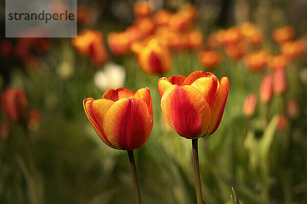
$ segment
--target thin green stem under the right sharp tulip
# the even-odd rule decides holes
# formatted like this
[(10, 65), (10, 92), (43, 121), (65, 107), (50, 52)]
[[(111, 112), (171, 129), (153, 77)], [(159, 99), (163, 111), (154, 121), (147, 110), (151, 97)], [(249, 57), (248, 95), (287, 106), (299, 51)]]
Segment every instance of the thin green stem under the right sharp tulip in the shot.
[(194, 167), (194, 180), (195, 180), (197, 204), (203, 204), (200, 163), (198, 156), (198, 138), (192, 139), (192, 152), (193, 152), (193, 167)]

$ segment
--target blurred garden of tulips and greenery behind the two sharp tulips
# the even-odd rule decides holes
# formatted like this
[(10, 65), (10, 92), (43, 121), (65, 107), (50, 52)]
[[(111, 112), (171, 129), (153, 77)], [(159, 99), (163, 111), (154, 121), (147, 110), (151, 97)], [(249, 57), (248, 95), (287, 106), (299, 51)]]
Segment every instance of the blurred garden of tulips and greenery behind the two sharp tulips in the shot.
[[(240, 203), (307, 203), (307, 1), (80, 0), (76, 38), (5, 38), (0, 9), (0, 203), (134, 203), (126, 152), (82, 108), (118, 87), (153, 100), (135, 150), (143, 202), (195, 203), (191, 141), (157, 85), (194, 70), (230, 80), (220, 127), (199, 140), (205, 202), (230, 203), (234, 187)], [(148, 49), (171, 66), (143, 64)]]

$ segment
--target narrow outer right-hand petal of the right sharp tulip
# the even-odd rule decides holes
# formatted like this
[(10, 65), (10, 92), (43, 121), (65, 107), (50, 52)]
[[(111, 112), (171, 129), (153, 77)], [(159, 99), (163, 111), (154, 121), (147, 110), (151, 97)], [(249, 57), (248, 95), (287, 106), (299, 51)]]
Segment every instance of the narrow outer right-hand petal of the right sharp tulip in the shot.
[(220, 80), (220, 88), (217, 91), (213, 105), (211, 107), (211, 122), (208, 128), (208, 135), (212, 135), (221, 123), (226, 101), (229, 92), (229, 80), (227, 77), (222, 77)]

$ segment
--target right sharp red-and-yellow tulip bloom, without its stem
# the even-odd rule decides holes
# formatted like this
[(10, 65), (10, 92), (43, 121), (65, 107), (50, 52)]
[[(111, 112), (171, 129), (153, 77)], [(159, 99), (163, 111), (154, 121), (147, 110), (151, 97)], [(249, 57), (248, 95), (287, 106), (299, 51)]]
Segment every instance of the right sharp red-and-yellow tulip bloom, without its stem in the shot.
[(220, 125), (229, 92), (229, 80), (213, 73), (193, 71), (184, 77), (162, 77), (158, 82), (161, 109), (167, 123), (187, 139), (212, 135)]

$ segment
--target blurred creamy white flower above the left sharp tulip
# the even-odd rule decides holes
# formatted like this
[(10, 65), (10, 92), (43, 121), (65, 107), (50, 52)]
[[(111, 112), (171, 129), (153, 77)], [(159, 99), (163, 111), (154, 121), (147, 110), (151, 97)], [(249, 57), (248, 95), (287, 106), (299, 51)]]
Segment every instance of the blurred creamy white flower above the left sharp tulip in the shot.
[(108, 63), (103, 70), (96, 72), (94, 83), (100, 90), (117, 89), (124, 85), (126, 71), (123, 66)]

